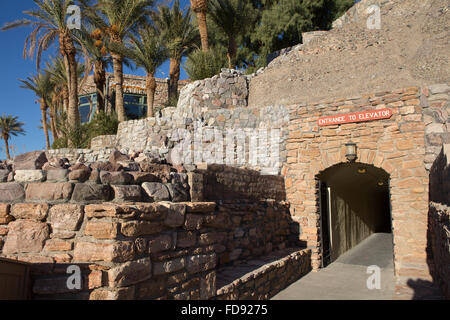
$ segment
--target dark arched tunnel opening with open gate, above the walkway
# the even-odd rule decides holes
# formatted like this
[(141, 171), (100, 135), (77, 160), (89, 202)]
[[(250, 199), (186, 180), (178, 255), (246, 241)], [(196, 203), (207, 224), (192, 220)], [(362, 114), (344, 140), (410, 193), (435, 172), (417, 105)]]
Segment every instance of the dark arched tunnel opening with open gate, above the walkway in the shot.
[(318, 178), (322, 267), (372, 234), (392, 233), (386, 171), (362, 163), (342, 163)]

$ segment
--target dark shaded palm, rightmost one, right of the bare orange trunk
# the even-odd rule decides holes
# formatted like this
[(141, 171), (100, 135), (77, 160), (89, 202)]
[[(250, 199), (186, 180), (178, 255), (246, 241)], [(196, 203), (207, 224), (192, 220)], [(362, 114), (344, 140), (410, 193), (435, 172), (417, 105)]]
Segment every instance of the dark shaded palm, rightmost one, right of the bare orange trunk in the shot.
[(209, 14), (228, 39), (228, 67), (236, 66), (237, 38), (244, 34), (248, 25), (245, 0), (211, 0), (209, 1)]

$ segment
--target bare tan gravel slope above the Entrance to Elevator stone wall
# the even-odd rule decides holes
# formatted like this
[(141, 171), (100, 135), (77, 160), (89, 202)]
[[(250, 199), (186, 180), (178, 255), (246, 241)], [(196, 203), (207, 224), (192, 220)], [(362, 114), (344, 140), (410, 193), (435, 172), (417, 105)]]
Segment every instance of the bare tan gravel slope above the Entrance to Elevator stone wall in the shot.
[[(381, 8), (381, 29), (366, 9)], [(250, 106), (318, 102), (450, 82), (448, 0), (363, 0), (336, 26), (272, 61), (250, 83)]]

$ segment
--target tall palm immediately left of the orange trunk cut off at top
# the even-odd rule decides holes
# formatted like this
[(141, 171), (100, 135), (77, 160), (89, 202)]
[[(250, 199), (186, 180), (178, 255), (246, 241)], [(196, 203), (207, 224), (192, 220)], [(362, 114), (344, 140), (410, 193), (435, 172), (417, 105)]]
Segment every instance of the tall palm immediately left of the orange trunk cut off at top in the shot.
[(197, 28), (191, 23), (191, 10), (183, 13), (179, 0), (175, 0), (172, 9), (159, 6), (158, 11), (153, 15), (153, 20), (169, 51), (169, 101), (174, 101), (178, 98), (181, 59), (195, 48), (199, 36)]

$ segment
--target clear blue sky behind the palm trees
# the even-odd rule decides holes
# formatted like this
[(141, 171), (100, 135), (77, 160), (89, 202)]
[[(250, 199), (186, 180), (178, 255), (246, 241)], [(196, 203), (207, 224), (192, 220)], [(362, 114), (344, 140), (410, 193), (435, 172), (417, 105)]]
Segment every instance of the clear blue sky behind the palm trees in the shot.
[[(181, 7), (185, 8), (189, 0), (181, 0)], [(23, 11), (33, 9), (32, 0), (2, 1), (0, 10), (0, 26), (6, 22), (23, 19)], [(36, 61), (22, 57), (23, 46), (27, 34), (31, 28), (22, 27), (8, 31), (0, 31), (0, 115), (18, 116), (19, 121), (25, 123), (25, 136), (12, 137), (10, 145), (14, 147), (14, 153), (21, 154), (28, 151), (43, 150), (45, 148), (44, 132), (38, 129), (40, 126), (41, 112), (35, 102), (33, 92), (20, 88), (18, 79), (25, 79), (36, 72)], [(55, 54), (55, 48), (50, 48), (49, 54)], [(131, 71), (125, 68), (129, 74), (144, 75), (143, 70)], [(169, 64), (165, 63), (157, 73), (157, 77), (166, 78), (169, 73)], [(183, 68), (181, 79), (187, 75)], [(0, 159), (5, 159), (5, 145), (0, 141)]]

